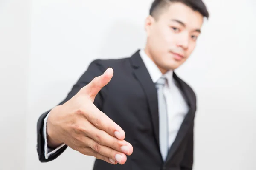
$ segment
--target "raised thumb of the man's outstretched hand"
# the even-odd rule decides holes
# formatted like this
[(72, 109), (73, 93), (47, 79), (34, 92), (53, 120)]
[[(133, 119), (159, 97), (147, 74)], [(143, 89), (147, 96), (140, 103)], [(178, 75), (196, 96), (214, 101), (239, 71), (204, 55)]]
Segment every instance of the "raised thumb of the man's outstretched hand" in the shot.
[(112, 77), (113, 69), (108, 68), (102, 75), (95, 77), (88, 85), (84, 87), (85, 93), (89, 96), (92, 102), (99, 91), (110, 82)]

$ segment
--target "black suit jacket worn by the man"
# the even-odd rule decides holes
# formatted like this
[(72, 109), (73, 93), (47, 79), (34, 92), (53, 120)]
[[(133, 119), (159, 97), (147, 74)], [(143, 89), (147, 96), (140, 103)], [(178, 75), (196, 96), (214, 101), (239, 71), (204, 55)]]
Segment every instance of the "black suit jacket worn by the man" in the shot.
[[(189, 111), (169, 150), (167, 160), (162, 161), (159, 148), (157, 90), (140, 57), (139, 51), (122, 59), (98, 59), (91, 62), (87, 71), (73, 86), (67, 102), (94, 77), (111, 67), (113, 78), (96, 96), (94, 104), (125, 131), (125, 140), (134, 147), (125, 164), (112, 165), (96, 159), (93, 170), (191, 170), (193, 164), (193, 128), (196, 97), (192, 89), (174, 73), (189, 105)], [(67, 146), (48, 159), (44, 157), (43, 124), (46, 113), (38, 119), (38, 156), (41, 162), (56, 159)]]

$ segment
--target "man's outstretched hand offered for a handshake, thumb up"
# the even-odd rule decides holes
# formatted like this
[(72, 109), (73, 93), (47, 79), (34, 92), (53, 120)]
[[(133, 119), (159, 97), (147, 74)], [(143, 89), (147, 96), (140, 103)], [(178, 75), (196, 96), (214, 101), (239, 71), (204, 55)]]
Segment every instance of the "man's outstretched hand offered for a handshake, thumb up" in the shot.
[(62, 143), (88, 156), (111, 164), (124, 164), (133, 147), (126, 142), (122, 128), (94, 104), (95, 96), (110, 82), (113, 69), (95, 77), (63, 105), (52, 109), (47, 119), (49, 146)]

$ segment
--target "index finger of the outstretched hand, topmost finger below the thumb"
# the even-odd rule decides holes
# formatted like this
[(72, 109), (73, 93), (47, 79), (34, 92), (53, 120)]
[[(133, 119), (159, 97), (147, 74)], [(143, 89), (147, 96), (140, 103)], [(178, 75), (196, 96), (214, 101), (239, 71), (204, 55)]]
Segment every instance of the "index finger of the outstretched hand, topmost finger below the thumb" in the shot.
[(104, 130), (111, 136), (115, 136), (119, 140), (125, 139), (125, 131), (117, 125), (112, 119), (100, 111), (93, 103), (84, 108), (87, 112), (85, 118), (100, 130)]

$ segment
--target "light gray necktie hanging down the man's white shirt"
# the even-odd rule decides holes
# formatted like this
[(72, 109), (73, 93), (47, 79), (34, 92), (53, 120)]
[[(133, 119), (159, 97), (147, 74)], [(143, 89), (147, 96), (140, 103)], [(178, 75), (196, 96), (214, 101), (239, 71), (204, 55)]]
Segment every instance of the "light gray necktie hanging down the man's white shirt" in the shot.
[(163, 94), (163, 87), (166, 84), (166, 81), (166, 78), (161, 77), (156, 82), (159, 113), (159, 141), (163, 161), (166, 160), (166, 156), (168, 154), (168, 116), (166, 109), (166, 99)]

